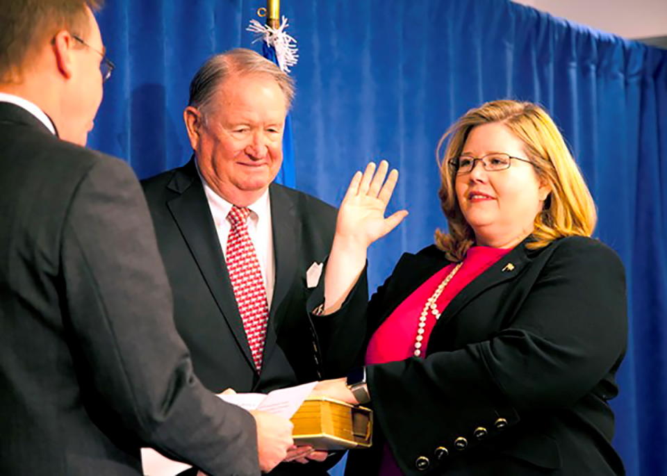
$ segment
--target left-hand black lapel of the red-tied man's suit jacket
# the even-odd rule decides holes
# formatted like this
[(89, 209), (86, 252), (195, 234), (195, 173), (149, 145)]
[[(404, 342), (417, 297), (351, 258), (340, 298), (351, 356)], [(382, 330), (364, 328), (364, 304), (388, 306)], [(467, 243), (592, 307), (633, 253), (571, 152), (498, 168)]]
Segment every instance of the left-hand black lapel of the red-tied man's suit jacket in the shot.
[(224, 255), (194, 158), (176, 170), (167, 188), (178, 194), (167, 202), (167, 207), (188, 243), (188, 248), (248, 365), (255, 370), (227, 265), (224, 263)]

